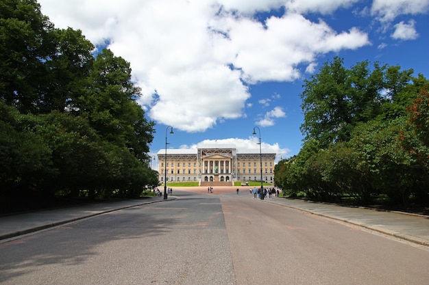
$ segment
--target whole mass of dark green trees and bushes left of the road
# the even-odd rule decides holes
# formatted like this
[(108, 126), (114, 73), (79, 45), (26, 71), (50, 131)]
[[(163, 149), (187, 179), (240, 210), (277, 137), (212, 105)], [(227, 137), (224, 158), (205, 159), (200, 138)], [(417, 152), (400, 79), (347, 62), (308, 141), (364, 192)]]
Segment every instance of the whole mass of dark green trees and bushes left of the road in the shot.
[[(136, 197), (154, 122), (130, 64), (82, 32), (56, 29), (32, 0), (0, 3), (0, 196)], [(7, 199), (6, 199), (7, 198)]]

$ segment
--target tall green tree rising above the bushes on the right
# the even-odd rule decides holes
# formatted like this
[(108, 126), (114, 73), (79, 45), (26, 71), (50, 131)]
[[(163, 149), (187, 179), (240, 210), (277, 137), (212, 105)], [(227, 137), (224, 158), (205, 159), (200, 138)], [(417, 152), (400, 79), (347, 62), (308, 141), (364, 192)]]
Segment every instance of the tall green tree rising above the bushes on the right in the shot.
[(360, 62), (347, 70), (343, 59), (335, 57), (304, 84), (302, 109), (305, 140), (318, 139), (328, 147), (348, 141), (353, 128), (380, 116), (382, 106), (399, 99), (411, 81), (413, 70)]

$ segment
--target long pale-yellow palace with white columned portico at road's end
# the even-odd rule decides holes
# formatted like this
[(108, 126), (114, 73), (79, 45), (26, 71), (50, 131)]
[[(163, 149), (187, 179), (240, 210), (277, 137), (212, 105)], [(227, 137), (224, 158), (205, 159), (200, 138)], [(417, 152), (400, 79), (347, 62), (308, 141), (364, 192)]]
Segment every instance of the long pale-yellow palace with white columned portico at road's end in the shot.
[(233, 185), (234, 181), (260, 181), (262, 157), (262, 180), (274, 182), (274, 152), (238, 150), (234, 145), (215, 144), (191, 149), (167, 149), (158, 152), (159, 180), (167, 182), (197, 181), (199, 185), (221, 182)]

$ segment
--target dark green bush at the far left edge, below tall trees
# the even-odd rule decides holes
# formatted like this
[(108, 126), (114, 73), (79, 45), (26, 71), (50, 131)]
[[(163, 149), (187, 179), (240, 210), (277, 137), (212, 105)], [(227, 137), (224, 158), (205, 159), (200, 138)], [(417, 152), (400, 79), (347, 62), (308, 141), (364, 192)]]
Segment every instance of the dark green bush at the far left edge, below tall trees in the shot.
[(0, 196), (10, 199), (50, 195), (44, 183), (56, 176), (51, 150), (34, 132), (42, 124), (32, 114), (21, 114), (0, 100)]

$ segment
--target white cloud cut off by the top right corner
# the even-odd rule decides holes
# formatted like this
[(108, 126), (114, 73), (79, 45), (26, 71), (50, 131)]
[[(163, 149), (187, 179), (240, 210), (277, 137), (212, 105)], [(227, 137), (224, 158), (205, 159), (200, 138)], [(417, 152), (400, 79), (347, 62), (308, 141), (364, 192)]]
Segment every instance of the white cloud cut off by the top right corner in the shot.
[(429, 0), (374, 0), (371, 14), (379, 21), (390, 22), (402, 14), (420, 14), (429, 10)]

